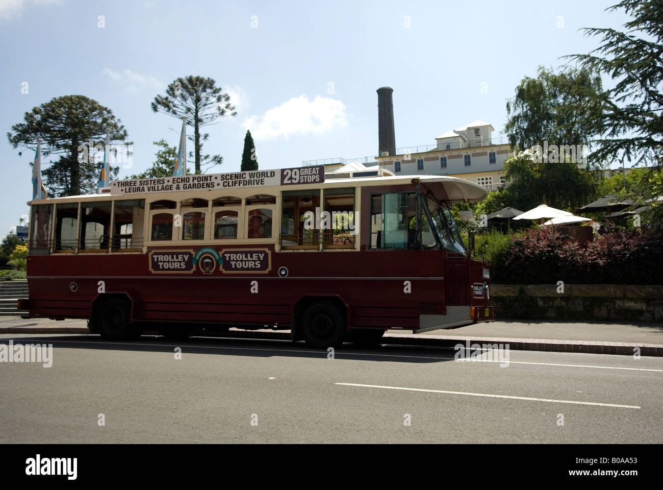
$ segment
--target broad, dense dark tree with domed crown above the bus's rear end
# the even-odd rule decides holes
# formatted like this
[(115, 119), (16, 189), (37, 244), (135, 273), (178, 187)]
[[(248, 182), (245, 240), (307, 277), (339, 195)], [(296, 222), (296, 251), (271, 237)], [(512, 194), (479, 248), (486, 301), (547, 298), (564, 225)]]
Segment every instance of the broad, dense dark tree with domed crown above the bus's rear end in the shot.
[[(58, 161), (42, 170), (50, 195), (72, 196), (96, 192), (101, 163), (94, 162), (90, 141), (93, 146), (103, 146), (107, 129), (111, 131), (112, 141), (127, 139), (127, 130), (113, 116), (113, 112), (86, 96), (53, 98), (26, 112), (23, 119), (24, 122), (13, 125), (7, 133), (13, 148), (21, 147), (34, 153), (37, 139), (42, 139), (43, 157), (60, 155)], [(88, 158), (80, 158), (80, 145), (86, 147)], [(84, 155), (86, 153), (81, 156)], [(110, 167), (111, 178), (117, 176), (118, 169)]]

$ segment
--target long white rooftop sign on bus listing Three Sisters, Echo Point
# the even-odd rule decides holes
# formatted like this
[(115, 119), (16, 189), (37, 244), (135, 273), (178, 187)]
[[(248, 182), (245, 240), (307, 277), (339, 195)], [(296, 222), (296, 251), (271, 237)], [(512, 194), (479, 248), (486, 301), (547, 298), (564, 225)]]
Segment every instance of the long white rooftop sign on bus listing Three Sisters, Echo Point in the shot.
[(125, 179), (111, 182), (111, 194), (150, 194), (203, 189), (237, 189), (269, 185), (320, 184), (325, 181), (324, 165), (292, 169), (252, 170), (230, 173)]

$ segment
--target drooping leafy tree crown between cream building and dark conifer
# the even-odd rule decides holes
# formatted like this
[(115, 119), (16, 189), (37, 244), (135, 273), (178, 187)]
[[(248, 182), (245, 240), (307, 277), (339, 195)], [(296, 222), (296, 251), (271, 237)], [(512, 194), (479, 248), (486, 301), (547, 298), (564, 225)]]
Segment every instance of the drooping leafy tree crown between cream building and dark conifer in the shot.
[(586, 68), (559, 73), (539, 66), (525, 77), (507, 102), (509, 143), (521, 151), (534, 145), (587, 145), (603, 132), (601, 77)]

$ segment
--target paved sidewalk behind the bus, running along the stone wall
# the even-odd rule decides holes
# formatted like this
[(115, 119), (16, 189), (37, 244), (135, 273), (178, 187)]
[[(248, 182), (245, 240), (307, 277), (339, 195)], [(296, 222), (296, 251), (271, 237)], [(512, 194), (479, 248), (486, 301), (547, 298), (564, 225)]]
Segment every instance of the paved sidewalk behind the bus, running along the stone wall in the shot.
[[(87, 334), (85, 320), (53, 321), (2, 317), (0, 334)], [(290, 331), (231, 329), (225, 337), (245, 339), (290, 339)], [(509, 344), (524, 351), (574, 352), (663, 357), (663, 323), (582, 323), (555, 321), (494, 321), (457, 329), (412, 334), (389, 330), (382, 339), (389, 345), (450, 347), (457, 344)]]

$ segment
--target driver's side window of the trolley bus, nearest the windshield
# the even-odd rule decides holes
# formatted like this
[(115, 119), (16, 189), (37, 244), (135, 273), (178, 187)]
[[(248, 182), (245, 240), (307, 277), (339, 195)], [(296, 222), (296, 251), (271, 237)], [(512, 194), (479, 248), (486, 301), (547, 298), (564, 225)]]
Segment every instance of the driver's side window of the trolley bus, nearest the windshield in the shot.
[(371, 196), (371, 248), (414, 248), (416, 193)]

